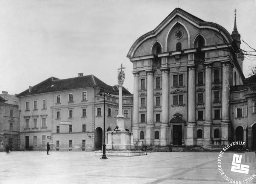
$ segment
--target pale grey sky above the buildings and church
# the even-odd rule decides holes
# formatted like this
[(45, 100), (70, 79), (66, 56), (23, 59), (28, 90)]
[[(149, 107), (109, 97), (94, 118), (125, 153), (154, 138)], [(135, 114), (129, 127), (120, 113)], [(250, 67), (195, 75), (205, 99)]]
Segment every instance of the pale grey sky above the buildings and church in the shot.
[[(123, 86), (133, 93), (126, 55), (175, 8), (229, 33), (236, 9), (241, 40), (256, 48), (256, 0), (0, 0), (0, 92), (21, 93), (51, 76), (78, 73), (116, 85), (122, 63)], [(241, 48), (248, 50), (243, 43)], [(255, 65), (244, 60), (245, 76)]]

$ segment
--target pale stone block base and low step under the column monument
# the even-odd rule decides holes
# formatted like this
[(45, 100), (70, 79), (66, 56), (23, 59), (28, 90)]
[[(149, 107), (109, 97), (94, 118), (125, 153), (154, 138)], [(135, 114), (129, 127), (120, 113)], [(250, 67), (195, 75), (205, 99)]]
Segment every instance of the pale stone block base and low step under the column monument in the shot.
[[(95, 156), (101, 156), (102, 151), (95, 151)], [(133, 132), (110, 131), (107, 132), (106, 155), (132, 157), (145, 155), (145, 152), (134, 149)]]

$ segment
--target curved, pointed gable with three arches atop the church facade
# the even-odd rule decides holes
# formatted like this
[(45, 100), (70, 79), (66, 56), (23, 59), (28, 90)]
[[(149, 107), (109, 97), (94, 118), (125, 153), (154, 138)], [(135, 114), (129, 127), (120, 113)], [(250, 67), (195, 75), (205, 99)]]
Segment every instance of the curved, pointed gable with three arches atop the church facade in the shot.
[[(203, 21), (180, 8), (176, 8), (154, 30), (140, 36), (131, 46), (127, 57), (133, 58), (136, 56), (151, 55), (152, 45), (156, 41), (161, 46), (164, 46), (164, 48), (162, 47), (162, 52), (174, 51), (176, 43), (179, 41), (174, 40), (174, 34), (177, 30), (183, 32), (183, 40), (180, 38), (182, 50), (193, 48), (193, 41), (198, 34), (205, 38), (208, 46), (223, 44), (215, 35), (224, 38), (228, 43), (232, 42), (229, 32), (222, 26)], [(172, 41), (174, 41), (173, 44), (171, 44)]]

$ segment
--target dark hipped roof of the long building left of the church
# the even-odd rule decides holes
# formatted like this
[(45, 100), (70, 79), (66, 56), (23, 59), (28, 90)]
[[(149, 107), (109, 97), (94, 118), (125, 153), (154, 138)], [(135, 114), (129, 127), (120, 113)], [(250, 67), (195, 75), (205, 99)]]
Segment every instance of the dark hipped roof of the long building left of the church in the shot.
[[(55, 77), (50, 77), (37, 85), (34, 85), (29, 92), (29, 89), (21, 92), (17, 97), (27, 96), (32, 94), (47, 93), (52, 91), (63, 91), (72, 90), (78, 88), (87, 87), (103, 87), (106, 92), (111, 94), (119, 94), (118, 87), (116, 85), (110, 86), (105, 82), (101, 81), (94, 75), (80, 76), (69, 79), (58, 79)], [(123, 87), (123, 95), (131, 95), (131, 93)]]

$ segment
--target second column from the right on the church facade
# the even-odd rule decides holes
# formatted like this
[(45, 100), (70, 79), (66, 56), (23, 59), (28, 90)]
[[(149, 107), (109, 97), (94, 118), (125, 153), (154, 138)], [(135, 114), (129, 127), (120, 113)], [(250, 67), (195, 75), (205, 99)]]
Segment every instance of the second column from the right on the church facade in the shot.
[(205, 118), (204, 118), (204, 146), (211, 144), (212, 130), (212, 65), (205, 66)]

